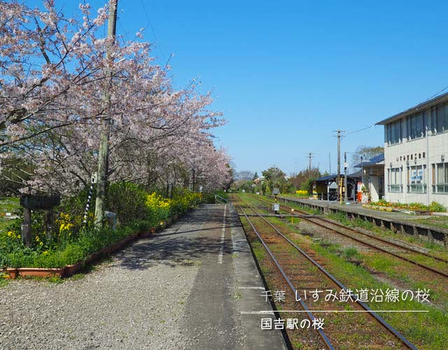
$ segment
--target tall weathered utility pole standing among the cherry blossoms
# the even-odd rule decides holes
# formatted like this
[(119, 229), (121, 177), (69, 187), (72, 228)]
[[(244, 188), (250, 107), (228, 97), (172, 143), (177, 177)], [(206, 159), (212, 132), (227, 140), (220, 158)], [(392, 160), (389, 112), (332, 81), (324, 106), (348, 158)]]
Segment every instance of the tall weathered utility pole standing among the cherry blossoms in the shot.
[[(116, 25), (117, 25), (117, 8), (118, 0), (109, 1), (109, 20), (107, 23), (107, 37), (111, 40), (109, 48), (106, 50), (106, 61), (111, 59), (110, 47), (115, 43)], [(110, 62), (111, 63), (111, 62)], [(106, 106), (106, 113), (111, 113), (109, 107), (111, 105), (111, 92), (109, 91), (112, 83), (112, 71), (106, 71), (106, 78), (108, 84), (103, 94), (104, 105)], [(108, 176), (108, 156), (109, 156), (109, 128), (111, 120), (110, 117), (103, 118), (101, 137), (99, 140), (98, 150), (98, 182), (97, 182), (97, 200), (95, 202), (95, 225), (101, 227), (104, 220), (104, 208), (106, 207), (106, 182)]]

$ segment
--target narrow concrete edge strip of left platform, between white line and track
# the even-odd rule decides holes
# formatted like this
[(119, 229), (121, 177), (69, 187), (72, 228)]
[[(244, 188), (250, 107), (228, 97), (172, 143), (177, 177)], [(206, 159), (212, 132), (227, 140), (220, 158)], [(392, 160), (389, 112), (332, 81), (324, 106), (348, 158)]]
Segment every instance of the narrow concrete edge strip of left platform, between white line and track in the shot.
[[(241, 297), (237, 300), (241, 327), (244, 332), (244, 345), (246, 349), (288, 349), (281, 330), (262, 330), (261, 318), (276, 318), (271, 304), (265, 302), (262, 291), (265, 286), (262, 282), (257, 265), (253, 259), (251, 248), (239, 221), (235, 207), (229, 206), (229, 218), (232, 223), (232, 253), (235, 266), (236, 293)], [(270, 314), (259, 311), (269, 310)], [(272, 323), (273, 324), (273, 323)]]

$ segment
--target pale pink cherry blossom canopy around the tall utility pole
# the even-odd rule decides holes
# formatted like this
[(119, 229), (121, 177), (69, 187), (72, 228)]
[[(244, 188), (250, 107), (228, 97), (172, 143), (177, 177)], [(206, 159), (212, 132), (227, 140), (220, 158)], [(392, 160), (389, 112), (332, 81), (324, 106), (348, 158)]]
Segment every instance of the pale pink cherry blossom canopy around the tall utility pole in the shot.
[(225, 183), (229, 158), (212, 142), (225, 121), (208, 109), (211, 94), (194, 80), (175, 90), (150, 43), (100, 38), (107, 6), (92, 17), (83, 4), (82, 18), (66, 18), (53, 1), (44, 5), (0, 1), (0, 158), (27, 164), (24, 186), (62, 194), (88, 186), (104, 118), (109, 181), (181, 185), (194, 171), (204, 188)]

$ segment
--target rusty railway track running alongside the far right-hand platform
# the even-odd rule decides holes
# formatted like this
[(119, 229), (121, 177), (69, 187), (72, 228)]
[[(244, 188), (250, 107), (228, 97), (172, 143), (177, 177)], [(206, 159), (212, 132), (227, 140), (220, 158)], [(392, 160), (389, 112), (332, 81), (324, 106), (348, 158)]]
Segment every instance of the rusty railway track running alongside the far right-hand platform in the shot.
[[(264, 198), (260, 198), (258, 196), (255, 195), (249, 195), (249, 197), (253, 197), (254, 199), (260, 201), (260, 202), (265, 202), (267, 204), (272, 204), (272, 201), (269, 200), (265, 200)], [(283, 211), (286, 211), (288, 214), (291, 214), (291, 207), (288, 207), (284, 204), (279, 204), (280, 205), (280, 209)], [(419, 255), (423, 255), (426, 258), (432, 258), (434, 260), (437, 260), (438, 262), (442, 262), (443, 264), (446, 264), (447, 267), (447, 271), (448, 271), (448, 260), (444, 260), (443, 258), (439, 258), (435, 255), (431, 255), (422, 251), (419, 251), (415, 248), (410, 248), (407, 246), (402, 246), (401, 244), (395, 244), (392, 241), (388, 241), (386, 239), (382, 239), (381, 237), (375, 237), (373, 235), (369, 235), (366, 234), (364, 232), (360, 232), (358, 230), (353, 230), (352, 228), (347, 228), (344, 225), (340, 225), (338, 223), (334, 223), (332, 221), (329, 221), (328, 219), (325, 218), (317, 218), (317, 217), (309, 217), (309, 214), (307, 214), (304, 211), (300, 211), (298, 209), (294, 209), (295, 212), (300, 213), (300, 214), (304, 214), (304, 216), (301, 216), (301, 218), (304, 221), (307, 221), (309, 223), (313, 223), (314, 225), (318, 225), (321, 228), (325, 228), (327, 230), (330, 230), (331, 232), (335, 232), (338, 235), (342, 235), (344, 237), (348, 237), (349, 239), (352, 239), (354, 241), (357, 241), (360, 244), (364, 244), (365, 246), (369, 246), (370, 248), (373, 248), (374, 250), (377, 251), (381, 251), (383, 253), (387, 253), (389, 255), (393, 255), (395, 258), (400, 258), (401, 260), (405, 260), (407, 262), (410, 262), (416, 266), (419, 266), (423, 269), (426, 269), (430, 272), (433, 272), (435, 274), (438, 274), (440, 276), (444, 276), (444, 277), (448, 277), (448, 272), (444, 272), (444, 271), (440, 271), (439, 269), (435, 269), (433, 267), (427, 266), (422, 264), (421, 262), (417, 262), (415, 260), (409, 259), (405, 256), (402, 256), (398, 253), (394, 253), (393, 251), (389, 251), (388, 249), (384, 248), (384, 246), (379, 246), (378, 244), (375, 243), (371, 243), (369, 241), (365, 241), (364, 239), (360, 239), (358, 237), (353, 237), (353, 235), (347, 234), (346, 232), (342, 232), (342, 230), (346, 230), (346, 231), (350, 231), (350, 232), (354, 232), (356, 235), (363, 235), (365, 237), (369, 237), (369, 239), (374, 239), (374, 241), (379, 242), (380, 244), (385, 244), (386, 246), (392, 247), (392, 248), (398, 248), (399, 250), (404, 251), (405, 253), (417, 253)], [(308, 217), (307, 217), (308, 216)]]

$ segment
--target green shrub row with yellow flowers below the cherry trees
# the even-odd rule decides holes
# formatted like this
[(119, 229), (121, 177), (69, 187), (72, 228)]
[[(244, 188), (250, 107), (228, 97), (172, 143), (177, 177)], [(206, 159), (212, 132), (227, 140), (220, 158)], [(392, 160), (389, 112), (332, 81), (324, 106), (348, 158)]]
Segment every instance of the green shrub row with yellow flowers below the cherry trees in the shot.
[(94, 228), (92, 211), (87, 216), (87, 224), (83, 224), (83, 199), (87, 199), (87, 193), (62, 203), (53, 235), (45, 232), (43, 213), (35, 211), (31, 224), (32, 248), (22, 243), (20, 219), (15, 221), (5, 235), (0, 235), (0, 268), (71, 265), (133, 233), (147, 231), (163, 224), (169, 217), (184, 214), (201, 201), (200, 195), (186, 190), (167, 199), (157, 193), (146, 193), (132, 183), (111, 185), (109, 198), (108, 209), (118, 216), (116, 230), (107, 225), (102, 229)]

